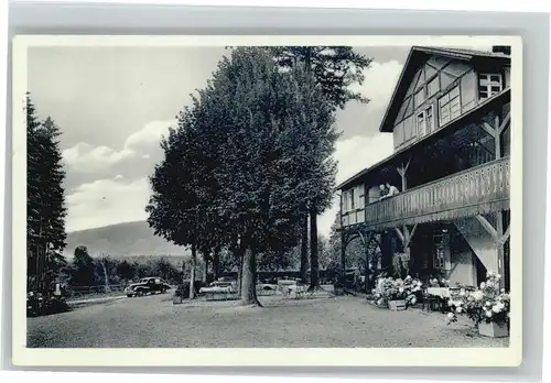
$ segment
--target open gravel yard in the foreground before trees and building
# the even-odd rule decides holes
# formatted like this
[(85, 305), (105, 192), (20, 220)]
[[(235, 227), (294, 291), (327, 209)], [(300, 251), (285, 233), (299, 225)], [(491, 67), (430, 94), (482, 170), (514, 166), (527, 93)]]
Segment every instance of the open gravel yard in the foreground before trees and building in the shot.
[(125, 298), (28, 319), (28, 347), (507, 347), (439, 313), (389, 311), (357, 297), (173, 305), (171, 294)]

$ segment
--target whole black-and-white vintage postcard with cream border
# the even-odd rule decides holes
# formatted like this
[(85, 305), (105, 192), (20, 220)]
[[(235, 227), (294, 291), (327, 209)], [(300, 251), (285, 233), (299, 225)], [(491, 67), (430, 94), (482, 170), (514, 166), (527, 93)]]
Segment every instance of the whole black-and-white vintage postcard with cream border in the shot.
[(521, 51), (17, 36), (13, 363), (519, 365)]

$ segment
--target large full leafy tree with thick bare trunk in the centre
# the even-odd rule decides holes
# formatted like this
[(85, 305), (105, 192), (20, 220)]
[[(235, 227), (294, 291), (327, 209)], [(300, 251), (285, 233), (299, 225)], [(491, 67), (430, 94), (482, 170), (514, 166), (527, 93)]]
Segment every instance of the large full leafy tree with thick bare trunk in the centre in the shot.
[(218, 106), (226, 102), (229, 112), (222, 119), (229, 144), (222, 146), (220, 214), (239, 228), (241, 297), (252, 303), (256, 255), (296, 245), (306, 201), (328, 195), (335, 163), (313, 166), (310, 152), (332, 152), (337, 134), (321, 86), (304, 70), (279, 70), (269, 50), (235, 50), (214, 84)]

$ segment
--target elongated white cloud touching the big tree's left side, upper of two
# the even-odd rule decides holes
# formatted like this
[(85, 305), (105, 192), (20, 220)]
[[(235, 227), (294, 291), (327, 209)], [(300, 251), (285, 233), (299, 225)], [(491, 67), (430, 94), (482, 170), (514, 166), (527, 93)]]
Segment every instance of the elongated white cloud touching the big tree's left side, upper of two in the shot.
[(63, 161), (73, 171), (98, 173), (127, 160), (137, 157), (149, 160), (150, 153), (160, 151), (161, 136), (168, 134), (169, 127), (174, 127), (175, 123), (175, 120), (148, 122), (140, 131), (127, 138), (120, 151), (79, 142), (63, 151)]

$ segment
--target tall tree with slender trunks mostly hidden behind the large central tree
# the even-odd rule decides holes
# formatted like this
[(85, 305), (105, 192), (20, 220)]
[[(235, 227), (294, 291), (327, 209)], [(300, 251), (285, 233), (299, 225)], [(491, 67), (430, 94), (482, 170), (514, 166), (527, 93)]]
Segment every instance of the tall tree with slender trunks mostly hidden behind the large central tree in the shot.
[[(305, 68), (306, 74), (321, 86), (323, 95), (336, 110), (344, 109), (349, 101), (367, 103), (369, 100), (354, 90), (355, 85), (364, 81), (364, 70), (371, 59), (355, 52), (350, 46), (277, 46), (272, 48), (280, 66), (288, 69)], [(327, 147), (331, 147), (328, 145)], [(324, 164), (331, 151), (311, 152), (313, 167)], [(313, 169), (315, 172), (315, 169)], [(322, 174), (324, 171), (320, 171)], [(315, 178), (312, 178), (315, 179)], [(322, 183), (326, 185), (325, 183)], [(312, 185), (316, 187), (317, 185)], [(310, 251), (311, 251), (311, 288), (318, 285), (317, 256), (317, 215), (322, 214), (329, 201), (326, 194), (309, 201), (305, 208), (310, 216)], [(303, 218), (302, 242), (307, 242), (307, 215)], [(305, 274), (309, 247), (302, 245), (301, 273)]]

